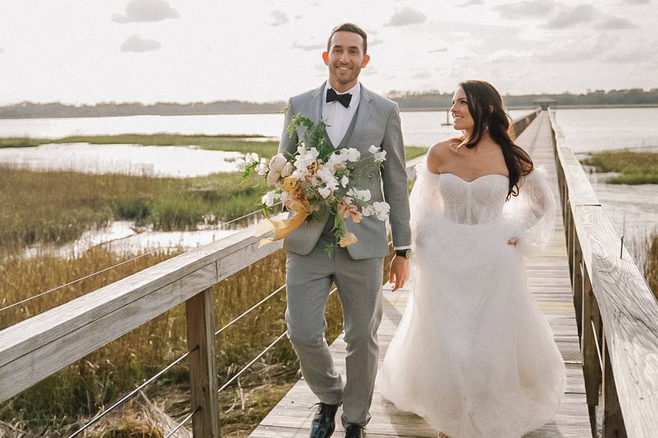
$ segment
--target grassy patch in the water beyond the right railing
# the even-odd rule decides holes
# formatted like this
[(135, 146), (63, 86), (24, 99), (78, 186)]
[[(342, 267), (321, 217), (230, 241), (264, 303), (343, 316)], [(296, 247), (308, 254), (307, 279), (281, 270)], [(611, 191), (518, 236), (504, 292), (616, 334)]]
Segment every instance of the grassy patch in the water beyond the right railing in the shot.
[(658, 153), (605, 151), (592, 153), (582, 163), (594, 172), (619, 172), (608, 177), (611, 184), (658, 184)]

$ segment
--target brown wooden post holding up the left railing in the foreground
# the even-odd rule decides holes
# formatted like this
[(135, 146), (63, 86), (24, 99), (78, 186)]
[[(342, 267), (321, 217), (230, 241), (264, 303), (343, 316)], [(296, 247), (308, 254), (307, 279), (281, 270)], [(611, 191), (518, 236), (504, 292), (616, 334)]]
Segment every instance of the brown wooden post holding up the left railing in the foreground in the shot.
[(219, 438), (219, 398), (217, 395), (217, 361), (215, 359), (215, 309), (212, 288), (185, 302), (187, 344), (190, 355), (192, 420), (195, 438)]

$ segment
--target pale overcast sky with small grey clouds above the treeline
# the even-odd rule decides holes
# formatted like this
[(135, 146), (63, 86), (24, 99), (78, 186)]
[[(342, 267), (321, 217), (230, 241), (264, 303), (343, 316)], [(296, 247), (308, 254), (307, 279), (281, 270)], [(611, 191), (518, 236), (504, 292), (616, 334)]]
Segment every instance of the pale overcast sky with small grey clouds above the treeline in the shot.
[(382, 94), (658, 87), (658, 0), (0, 0), (0, 104), (284, 100), (343, 21)]

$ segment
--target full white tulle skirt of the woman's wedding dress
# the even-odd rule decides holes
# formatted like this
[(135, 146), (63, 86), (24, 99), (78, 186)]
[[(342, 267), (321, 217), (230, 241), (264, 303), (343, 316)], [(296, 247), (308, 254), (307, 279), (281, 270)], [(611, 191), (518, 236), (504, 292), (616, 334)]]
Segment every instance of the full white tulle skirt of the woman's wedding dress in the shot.
[(513, 438), (550, 422), (561, 353), (528, 292), (511, 225), (419, 227), (413, 288), (378, 389), (451, 438)]

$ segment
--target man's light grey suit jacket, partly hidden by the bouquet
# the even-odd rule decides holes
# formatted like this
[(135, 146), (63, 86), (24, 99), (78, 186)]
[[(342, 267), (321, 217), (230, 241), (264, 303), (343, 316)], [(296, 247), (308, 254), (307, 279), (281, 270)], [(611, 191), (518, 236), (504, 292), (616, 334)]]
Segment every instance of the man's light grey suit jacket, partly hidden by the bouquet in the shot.
[[(326, 82), (325, 82), (326, 83)], [(295, 114), (302, 113), (314, 122), (322, 117), (322, 100), (325, 83), (319, 88), (292, 97), (284, 122), (284, 131), (279, 144), (279, 152), (294, 153), (302, 138), (304, 127), (300, 127), (289, 136), (286, 128)], [(372, 155), (369, 147), (374, 144), (386, 151), (386, 161), (380, 171), (371, 160), (364, 160), (357, 166), (367, 166), (367, 172), (358, 167), (352, 173), (354, 185), (358, 189), (369, 189), (372, 198), (369, 201), (386, 201), (391, 205), (389, 223), (394, 246), (411, 244), (409, 229), (409, 196), (406, 178), (406, 159), (402, 130), (400, 129), (400, 110), (398, 104), (367, 90), (361, 85), (361, 99), (356, 112), (356, 124), (348, 141), (341, 142), (346, 148), (356, 148), (361, 157)], [(328, 211), (321, 212), (319, 221), (306, 221), (284, 240), (284, 248), (292, 253), (307, 255), (317, 244), (324, 229)], [(345, 220), (348, 231), (356, 235), (358, 242), (348, 246), (353, 259), (385, 257), (389, 253), (385, 223), (375, 216), (364, 217), (360, 223)]]

